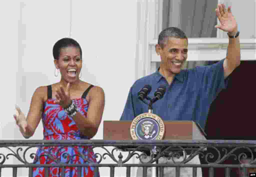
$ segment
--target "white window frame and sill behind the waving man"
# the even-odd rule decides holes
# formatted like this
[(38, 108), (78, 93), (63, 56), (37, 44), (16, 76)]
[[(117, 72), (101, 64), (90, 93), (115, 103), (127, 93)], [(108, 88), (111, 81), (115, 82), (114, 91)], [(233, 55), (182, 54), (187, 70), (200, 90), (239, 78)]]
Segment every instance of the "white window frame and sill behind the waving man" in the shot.
[[(163, 0), (138, 1), (136, 79), (155, 72), (156, 62), (160, 62), (155, 45), (162, 30), (162, 5)], [(187, 61), (218, 61), (225, 58), (228, 38), (223, 38), (219, 29), (217, 34), (217, 38), (189, 38)], [(255, 44), (255, 38), (240, 38), (241, 60), (256, 60)]]

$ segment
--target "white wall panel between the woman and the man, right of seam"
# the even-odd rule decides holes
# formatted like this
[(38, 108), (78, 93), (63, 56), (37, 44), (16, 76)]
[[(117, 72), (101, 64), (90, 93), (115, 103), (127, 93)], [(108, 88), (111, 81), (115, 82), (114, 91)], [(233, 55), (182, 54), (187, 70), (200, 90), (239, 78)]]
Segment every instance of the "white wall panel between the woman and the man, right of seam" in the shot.
[(105, 91), (103, 120), (119, 120), (135, 79), (136, 2), (73, 1), (71, 37), (83, 49), (83, 80)]

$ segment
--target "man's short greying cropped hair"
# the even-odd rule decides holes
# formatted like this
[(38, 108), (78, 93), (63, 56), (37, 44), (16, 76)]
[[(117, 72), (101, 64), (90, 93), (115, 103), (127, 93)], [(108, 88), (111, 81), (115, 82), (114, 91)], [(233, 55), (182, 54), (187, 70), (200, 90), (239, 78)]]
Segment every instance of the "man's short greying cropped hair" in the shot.
[(166, 40), (168, 40), (169, 37), (188, 39), (186, 34), (181, 29), (177, 27), (169, 27), (164, 29), (159, 34), (157, 44), (160, 45), (160, 47), (163, 49), (164, 45), (166, 44)]

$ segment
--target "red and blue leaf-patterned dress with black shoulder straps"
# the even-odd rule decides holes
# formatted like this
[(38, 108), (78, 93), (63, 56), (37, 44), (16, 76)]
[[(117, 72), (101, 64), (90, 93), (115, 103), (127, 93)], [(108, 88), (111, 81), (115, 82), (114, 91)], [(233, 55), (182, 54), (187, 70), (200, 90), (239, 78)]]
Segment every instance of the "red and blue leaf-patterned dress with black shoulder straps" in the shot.
[[(44, 103), (44, 112), (42, 115), (42, 123), (44, 126), (44, 140), (80, 140), (88, 139), (80, 134), (76, 123), (63, 110), (63, 108), (54, 103), (55, 99), (51, 98), (51, 86), (48, 87), (48, 99)], [(84, 92), (82, 98), (72, 100), (76, 104), (79, 112), (87, 116), (88, 102), (86, 95), (92, 85)], [(58, 163), (70, 164), (85, 164), (96, 163), (96, 159), (90, 146), (74, 146), (74, 147), (39, 147), (36, 156), (40, 159), (35, 160), (36, 164), (55, 164)], [(65, 158), (66, 157), (66, 158)], [(82, 158), (83, 157), (83, 158)], [(54, 160), (53, 160), (54, 159)], [(86, 160), (84, 160), (86, 159)], [(94, 167), (82, 167), (81, 176), (93, 177)], [(44, 168), (33, 168), (33, 176), (44, 177)], [(51, 167), (49, 176), (59, 177), (62, 174), (62, 168)], [(65, 167), (65, 176), (78, 176), (77, 167)], [(99, 174), (98, 174), (99, 176)]]

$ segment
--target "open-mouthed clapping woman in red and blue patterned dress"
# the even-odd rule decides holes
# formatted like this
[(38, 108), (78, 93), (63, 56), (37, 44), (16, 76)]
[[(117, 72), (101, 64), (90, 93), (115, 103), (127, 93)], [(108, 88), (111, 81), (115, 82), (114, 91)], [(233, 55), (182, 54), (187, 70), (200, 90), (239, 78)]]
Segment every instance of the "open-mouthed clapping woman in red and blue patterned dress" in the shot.
[[(80, 80), (82, 50), (71, 38), (58, 40), (53, 47), (55, 76), (58, 83), (38, 87), (32, 97), (27, 117), (18, 106), (14, 115), (25, 138), (33, 136), (40, 120), (44, 126), (44, 140), (91, 139), (98, 131), (105, 96), (102, 88)], [(55, 164), (96, 163), (90, 146), (39, 147), (34, 163)], [(65, 167), (65, 176), (78, 176), (77, 167)], [(34, 168), (33, 176), (44, 176), (45, 168)], [(61, 176), (62, 168), (51, 167), (49, 176)], [(99, 176), (99, 174), (97, 174)], [(81, 176), (93, 177), (93, 167), (82, 167)]]

